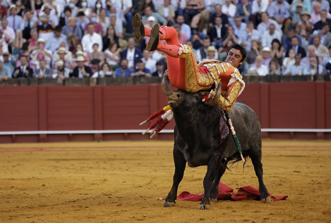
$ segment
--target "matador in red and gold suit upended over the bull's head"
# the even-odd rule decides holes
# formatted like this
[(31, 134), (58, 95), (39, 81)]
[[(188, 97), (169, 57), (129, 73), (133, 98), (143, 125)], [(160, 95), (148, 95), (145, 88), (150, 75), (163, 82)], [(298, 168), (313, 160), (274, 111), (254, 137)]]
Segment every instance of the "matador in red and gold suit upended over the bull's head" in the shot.
[[(243, 64), (247, 55), (243, 46), (233, 44), (223, 63), (218, 60), (206, 60), (197, 64), (193, 48), (190, 45), (179, 44), (175, 28), (160, 27), (158, 23), (152, 29), (147, 28), (143, 25), (139, 14), (133, 18), (133, 28), (138, 41), (143, 40), (144, 36), (150, 37), (146, 46), (148, 51), (158, 50), (167, 54), (168, 77), (173, 86), (187, 92), (204, 91), (202, 94), (208, 92), (203, 99), (208, 103), (220, 85), (219, 100), (214, 99), (211, 102), (216, 102), (225, 111), (231, 110), (245, 87), (237, 69)], [(166, 40), (167, 44), (162, 43), (161, 40)]]

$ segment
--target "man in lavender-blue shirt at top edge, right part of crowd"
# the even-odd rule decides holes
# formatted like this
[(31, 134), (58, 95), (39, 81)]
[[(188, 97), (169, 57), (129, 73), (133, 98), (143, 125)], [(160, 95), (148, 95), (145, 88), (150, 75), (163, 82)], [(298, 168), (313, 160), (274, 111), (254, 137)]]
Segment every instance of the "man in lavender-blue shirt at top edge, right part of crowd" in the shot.
[(274, 18), (279, 26), (283, 26), (283, 30), (287, 30), (291, 25), (291, 15), (289, 13), (290, 4), (284, 0), (271, 2), (268, 7), (268, 15)]

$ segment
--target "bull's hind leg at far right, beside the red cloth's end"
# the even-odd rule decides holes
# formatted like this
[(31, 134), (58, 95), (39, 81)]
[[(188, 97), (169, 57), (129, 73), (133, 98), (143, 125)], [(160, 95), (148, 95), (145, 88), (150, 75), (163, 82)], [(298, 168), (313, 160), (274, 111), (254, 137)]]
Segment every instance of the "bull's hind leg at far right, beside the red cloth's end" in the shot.
[(249, 155), (253, 166), (254, 166), (254, 170), (255, 170), (255, 174), (259, 179), (259, 191), (260, 191), (260, 198), (261, 201), (263, 203), (270, 203), (271, 199), (270, 199), (270, 195), (268, 193), (267, 188), (265, 187), (264, 183), (263, 183), (263, 169), (262, 169), (262, 163), (261, 163), (261, 152), (259, 152), (258, 154), (250, 154)]

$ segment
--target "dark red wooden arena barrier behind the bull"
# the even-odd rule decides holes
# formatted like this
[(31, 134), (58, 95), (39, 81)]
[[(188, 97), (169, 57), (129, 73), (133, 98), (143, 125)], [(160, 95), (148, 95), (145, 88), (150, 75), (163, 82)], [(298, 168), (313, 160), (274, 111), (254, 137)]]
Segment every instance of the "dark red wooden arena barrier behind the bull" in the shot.
[[(330, 82), (251, 83), (238, 98), (258, 114), (261, 128), (331, 128), (330, 100)], [(0, 88), (0, 131), (147, 129), (139, 123), (164, 106), (160, 84), (5, 86)], [(174, 121), (166, 129), (173, 127)], [(265, 132), (263, 137), (331, 139), (331, 133)], [(0, 143), (148, 138), (139, 133), (0, 135)]]

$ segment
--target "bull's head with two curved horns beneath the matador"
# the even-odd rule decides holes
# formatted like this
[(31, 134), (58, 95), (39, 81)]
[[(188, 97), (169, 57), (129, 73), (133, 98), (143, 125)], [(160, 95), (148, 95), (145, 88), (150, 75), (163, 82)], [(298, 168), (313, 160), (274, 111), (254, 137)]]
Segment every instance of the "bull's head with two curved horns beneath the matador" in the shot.
[(187, 93), (183, 90), (171, 91), (167, 85), (167, 77), (164, 77), (162, 80), (162, 90), (168, 96), (168, 104), (171, 108), (178, 108), (180, 105), (193, 108), (197, 105), (204, 105), (204, 103), (208, 106), (217, 105), (219, 97), (221, 96), (221, 84), (218, 85), (215, 96), (209, 100), (208, 102), (202, 102), (203, 95), (200, 92), (195, 93)]

